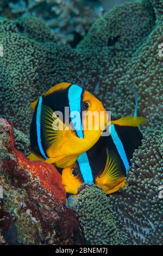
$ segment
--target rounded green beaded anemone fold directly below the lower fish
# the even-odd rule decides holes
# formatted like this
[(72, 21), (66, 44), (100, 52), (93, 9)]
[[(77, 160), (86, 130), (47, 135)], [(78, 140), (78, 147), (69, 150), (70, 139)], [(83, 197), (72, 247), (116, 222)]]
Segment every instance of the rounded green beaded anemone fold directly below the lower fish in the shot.
[[(70, 197), (83, 227), (87, 245), (128, 245), (130, 236), (118, 228), (115, 212), (108, 204), (108, 198), (102, 188), (86, 185), (78, 196)], [(69, 199), (69, 200), (70, 200)]]

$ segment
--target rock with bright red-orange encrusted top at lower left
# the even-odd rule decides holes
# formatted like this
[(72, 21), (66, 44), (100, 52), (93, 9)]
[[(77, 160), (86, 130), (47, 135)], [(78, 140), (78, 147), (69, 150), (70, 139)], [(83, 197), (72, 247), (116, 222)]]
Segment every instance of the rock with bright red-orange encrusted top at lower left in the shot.
[[(0, 230), (9, 244), (80, 244), (78, 220), (65, 208), (66, 192), (54, 166), (30, 162), (14, 148), (12, 126), (0, 119), (3, 202)], [(1, 241), (5, 243), (5, 240)]]

